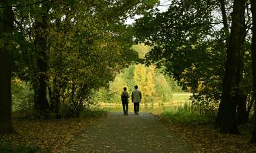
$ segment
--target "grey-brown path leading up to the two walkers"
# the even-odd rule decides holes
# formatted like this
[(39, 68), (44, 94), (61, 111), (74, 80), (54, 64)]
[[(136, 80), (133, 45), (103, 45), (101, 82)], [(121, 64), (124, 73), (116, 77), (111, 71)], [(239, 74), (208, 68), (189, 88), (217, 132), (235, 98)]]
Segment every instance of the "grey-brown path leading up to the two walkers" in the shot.
[(152, 114), (109, 116), (89, 126), (70, 141), (66, 152), (195, 152), (177, 133)]

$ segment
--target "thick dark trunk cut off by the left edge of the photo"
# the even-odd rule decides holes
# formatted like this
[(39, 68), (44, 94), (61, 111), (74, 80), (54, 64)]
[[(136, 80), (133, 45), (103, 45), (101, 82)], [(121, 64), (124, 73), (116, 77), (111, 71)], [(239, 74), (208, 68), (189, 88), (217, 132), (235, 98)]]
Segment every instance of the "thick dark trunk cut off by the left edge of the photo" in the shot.
[[(0, 0), (0, 6), (11, 5), (7, 1)], [(5, 7), (0, 14), (0, 133), (10, 133), (12, 129), (12, 95), (11, 95), (11, 52), (6, 46), (12, 35), (14, 26), (14, 14), (12, 7)], [(4, 36), (5, 35), (5, 36)]]

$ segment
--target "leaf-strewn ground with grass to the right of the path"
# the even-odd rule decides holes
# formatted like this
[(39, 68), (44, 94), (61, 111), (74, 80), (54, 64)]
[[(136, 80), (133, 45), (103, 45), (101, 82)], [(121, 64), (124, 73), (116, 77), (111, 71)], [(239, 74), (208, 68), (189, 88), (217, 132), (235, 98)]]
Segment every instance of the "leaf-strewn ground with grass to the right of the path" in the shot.
[(170, 130), (179, 133), (183, 139), (197, 149), (197, 152), (256, 152), (256, 144), (250, 143), (253, 132), (252, 122), (238, 126), (240, 135), (230, 135), (214, 130), (213, 116), (184, 112), (164, 112), (156, 116)]

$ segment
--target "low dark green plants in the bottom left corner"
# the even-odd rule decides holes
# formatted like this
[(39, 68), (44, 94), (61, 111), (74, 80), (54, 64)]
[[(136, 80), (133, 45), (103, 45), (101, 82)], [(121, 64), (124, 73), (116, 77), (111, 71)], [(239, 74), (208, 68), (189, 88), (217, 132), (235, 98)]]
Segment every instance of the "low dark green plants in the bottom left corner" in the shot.
[(51, 150), (43, 150), (38, 146), (28, 146), (25, 144), (12, 146), (10, 143), (1, 143), (0, 152), (4, 153), (51, 153)]

